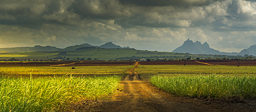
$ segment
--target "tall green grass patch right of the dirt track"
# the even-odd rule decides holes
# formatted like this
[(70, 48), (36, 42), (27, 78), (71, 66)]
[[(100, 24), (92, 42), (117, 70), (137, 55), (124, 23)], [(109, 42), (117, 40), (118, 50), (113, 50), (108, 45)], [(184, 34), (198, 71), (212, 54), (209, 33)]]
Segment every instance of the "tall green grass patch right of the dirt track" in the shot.
[(172, 94), (190, 97), (225, 98), (256, 96), (255, 77), (225, 76), (153, 76), (151, 83)]

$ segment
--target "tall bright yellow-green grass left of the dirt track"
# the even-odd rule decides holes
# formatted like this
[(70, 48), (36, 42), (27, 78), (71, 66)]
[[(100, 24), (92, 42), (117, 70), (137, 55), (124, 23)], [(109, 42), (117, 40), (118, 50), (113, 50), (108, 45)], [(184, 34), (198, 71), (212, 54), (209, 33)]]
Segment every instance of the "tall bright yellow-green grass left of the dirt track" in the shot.
[(120, 77), (0, 78), (0, 111), (56, 111), (116, 90)]

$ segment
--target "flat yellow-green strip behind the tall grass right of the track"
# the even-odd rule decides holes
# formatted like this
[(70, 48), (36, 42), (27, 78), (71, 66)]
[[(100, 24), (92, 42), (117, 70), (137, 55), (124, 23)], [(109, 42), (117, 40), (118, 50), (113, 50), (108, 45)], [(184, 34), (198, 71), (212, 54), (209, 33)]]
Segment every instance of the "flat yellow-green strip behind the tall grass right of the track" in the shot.
[(256, 66), (199, 66), (199, 65), (140, 65), (135, 69), (141, 78), (152, 76), (256, 76)]

